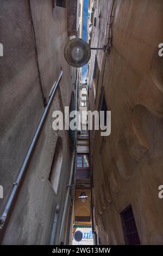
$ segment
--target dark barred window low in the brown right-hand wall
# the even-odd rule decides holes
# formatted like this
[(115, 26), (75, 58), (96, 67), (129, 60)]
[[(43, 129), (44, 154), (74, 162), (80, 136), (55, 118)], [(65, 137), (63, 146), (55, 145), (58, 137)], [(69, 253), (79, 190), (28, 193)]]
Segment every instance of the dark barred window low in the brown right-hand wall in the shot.
[(121, 212), (121, 221), (126, 245), (140, 245), (131, 205)]

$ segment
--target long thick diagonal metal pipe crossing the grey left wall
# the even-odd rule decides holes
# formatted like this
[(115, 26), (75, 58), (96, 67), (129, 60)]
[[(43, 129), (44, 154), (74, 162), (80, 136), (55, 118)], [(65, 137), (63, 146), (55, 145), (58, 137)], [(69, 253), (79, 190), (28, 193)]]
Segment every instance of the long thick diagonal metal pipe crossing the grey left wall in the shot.
[(22, 181), (22, 177), (26, 171), (26, 168), (27, 168), (27, 164), (29, 163), (29, 159), (30, 157), (32, 156), (32, 152), (33, 152), (33, 149), (34, 149), (34, 146), (36, 144), (36, 141), (37, 141), (37, 138), (39, 137), (39, 134), (40, 134), (40, 131), (41, 131), (41, 128), (42, 128), (42, 125), (45, 121), (45, 118), (47, 116), (47, 113), (48, 113), (48, 110), (49, 110), (49, 107), (51, 106), (51, 103), (52, 103), (52, 100), (54, 98), (54, 94), (55, 94), (55, 91), (57, 90), (57, 87), (59, 85), (59, 82), (60, 82), (60, 79), (61, 79), (61, 76), (62, 76), (63, 72), (61, 71), (60, 75), (59, 75), (59, 78), (57, 80), (57, 83), (55, 84), (55, 87), (53, 89), (53, 92), (51, 94), (51, 97), (49, 98), (49, 101), (48, 101), (48, 104), (43, 112), (43, 115), (41, 117), (41, 120), (40, 120), (40, 123), (39, 123), (39, 126), (37, 127), (36, 129), (36, 132), (35, 132), (35, 135), (34, 135), (34, 138), (32, 140), (32, 143), (30, 144), (30, 147), (29, 147), (29, 150), (27, 152), (27, 155), (26, 155), (26, 158), (24, 159), (24, 162), (23, 162), (23, 165), (22, 165), (22, 168), (18, 174), (18, 177), (17, 177), (17, 180), (16, 182), (14, 182), (14, 188), (12, 189), (12, 192), (10, 194), (10, 197), (9, 197), (9, 200), (8, 200), (8, 203), (7, 205), (5, 206), (5, 209), (4, 209), (4, 212), (0, 218), (0, 229), (3, 228), (4, 226), (4, 223), (8, 217), (8, 213), (9, 213), (9, 210), (11, 209), (11, 205), (15, 199), (15, 196), (16, 196), (16, 193), (17, 193), (17, 189), (18, 187), (20, 186), (20, 183)]

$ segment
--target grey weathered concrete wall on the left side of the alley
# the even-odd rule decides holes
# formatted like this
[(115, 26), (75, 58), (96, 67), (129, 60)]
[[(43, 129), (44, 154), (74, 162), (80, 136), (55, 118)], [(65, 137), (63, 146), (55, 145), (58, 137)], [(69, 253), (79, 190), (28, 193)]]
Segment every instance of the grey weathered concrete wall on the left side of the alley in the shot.
[[(70, 104), (71, 92), (74, 89), (75, 73), (64, 59), (64, 47), (70, 40), (67, 37), (66, 8), (53, 9), (51, 0), (32, 0), (30, 3), (43, 94), (48, 101), (49, 91), (62, 69), (64, 74), (60, 90), (62, 102), (67, 106)], [(0, 184), (4, 187), (4, 199), (0, 199), (2, 214), (44, 107), (29, 2), (1, 1), (0, 26), (0, 41), (4, 46), (4, 57), (0, 58), (0, 99), (3, 103), (0, 109)], [(60, 225), (71, 154), (67, 132), (57, 133), (52, 129), (54, 110), (62, 110), (58, 92), (55, 94), (20, 193), (10, 214), (3, 234), (3, 244), (47, 244), (57, 204), (61, 205)], [(56, 195), (48, 181), (48, 176), (58, 136), (61, 136), (63, 141), (64, 159)]]

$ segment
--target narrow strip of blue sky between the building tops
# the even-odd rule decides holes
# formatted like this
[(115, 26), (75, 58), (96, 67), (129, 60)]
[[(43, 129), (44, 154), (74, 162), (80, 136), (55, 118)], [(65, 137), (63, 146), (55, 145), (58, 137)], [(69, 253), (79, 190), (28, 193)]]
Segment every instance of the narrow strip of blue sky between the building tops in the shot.
[[(83, 40), (86, 41), (87, 39), (87, 18), (88, 18), (88, 5), (89, 0), (84, 0), (84, 10), (83, 10)], [(82, 68), (82, 78), (83, 82), (86, 80), (86, 72), (87, 72), (87, 65)]]

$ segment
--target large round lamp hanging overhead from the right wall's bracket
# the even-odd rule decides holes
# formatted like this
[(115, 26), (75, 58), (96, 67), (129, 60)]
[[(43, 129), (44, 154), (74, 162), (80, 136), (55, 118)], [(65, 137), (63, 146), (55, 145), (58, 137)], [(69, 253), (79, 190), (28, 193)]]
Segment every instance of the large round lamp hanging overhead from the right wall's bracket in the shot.
[(65, 59), (74, 68), (81, 68), (91, 57), (90, 46), (81, 38), (74, 38), (65, 46)]

